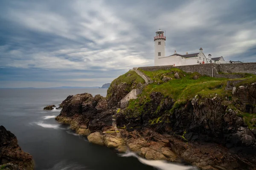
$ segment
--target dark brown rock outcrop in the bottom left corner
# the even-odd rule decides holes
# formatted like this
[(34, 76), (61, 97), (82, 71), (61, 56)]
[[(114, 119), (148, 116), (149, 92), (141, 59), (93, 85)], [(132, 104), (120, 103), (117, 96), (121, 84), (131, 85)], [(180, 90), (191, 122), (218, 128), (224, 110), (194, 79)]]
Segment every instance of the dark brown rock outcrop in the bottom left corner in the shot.
[(34, 169), (32, 156), (21, 150), (17, 143), (16, 136), (3, 126), (0, 126), (0, 165), (1, 164), (3, 164), (3, 170)]

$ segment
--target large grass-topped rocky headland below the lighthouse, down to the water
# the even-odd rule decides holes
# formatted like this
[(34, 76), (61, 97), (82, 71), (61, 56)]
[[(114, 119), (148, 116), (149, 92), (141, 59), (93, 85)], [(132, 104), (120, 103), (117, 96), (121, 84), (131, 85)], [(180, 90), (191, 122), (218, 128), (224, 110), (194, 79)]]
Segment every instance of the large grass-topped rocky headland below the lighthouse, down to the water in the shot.
[[(107, 147), (123, 146), (120, 132), (127, 148), (146, 159), (186, 161), (203, 170), (256, 169), (255, 75), (238, 81), (177, 68), (143, 73), (153, 83), (121, 111), (121, 99), (145, 83), (134, 71), (115, 79), (106, 98), (69, 96), (56, 120)], [(232, 90), (225, 90), (227, 82)]]

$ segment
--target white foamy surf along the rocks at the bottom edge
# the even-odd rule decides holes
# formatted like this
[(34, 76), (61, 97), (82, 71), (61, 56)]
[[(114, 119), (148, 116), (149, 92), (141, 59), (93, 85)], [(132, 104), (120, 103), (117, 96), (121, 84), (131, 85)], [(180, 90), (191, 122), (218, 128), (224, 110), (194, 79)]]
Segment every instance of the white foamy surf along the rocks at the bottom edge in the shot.
[(151, 167), (155, 167), (159, 170), (198, 170), (198, 168), (193, 166), (185, 166), (182, 164), (170, 163), (164, 160), (147, 160), (147, 159), (141, 158), (140, 156), (137, 156), (137, 154), (133, 152), (120, 153), (118, 155), (122, 157), (133, 156), (137, 158), (141, 163), (149, 165)]

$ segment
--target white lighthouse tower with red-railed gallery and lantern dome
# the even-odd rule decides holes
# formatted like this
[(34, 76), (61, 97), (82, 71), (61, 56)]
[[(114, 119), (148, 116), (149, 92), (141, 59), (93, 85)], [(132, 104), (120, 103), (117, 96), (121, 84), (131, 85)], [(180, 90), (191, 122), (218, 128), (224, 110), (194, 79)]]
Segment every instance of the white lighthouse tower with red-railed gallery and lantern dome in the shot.
[(166, 37), (163, 34), (164, 32), (159, 29), (156, 32), (156, 36), (154, 37), (155, 42), (155, 58), (154, 58), (154, 65), (160, 65), (159, 58), (166, 57), (165, 56), (165, 40)]

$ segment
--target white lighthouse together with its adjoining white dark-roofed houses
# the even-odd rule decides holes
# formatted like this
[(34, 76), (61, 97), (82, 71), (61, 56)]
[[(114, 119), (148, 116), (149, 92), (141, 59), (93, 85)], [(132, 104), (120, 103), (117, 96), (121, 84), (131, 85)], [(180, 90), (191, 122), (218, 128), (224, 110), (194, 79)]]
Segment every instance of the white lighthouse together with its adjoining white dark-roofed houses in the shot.
[[(154, 37), (154, 65), (195, 65), (195, 64), (205, 64), (205, 63), (221, 63), (224, 61), (223, 57), (212, 58), (212, 55), (209, 54), (207, 57), (203, 53), (203, 49), (199, 49), (199, 53), (193, 54), (177, 54), (175, 51), (171, 56), (165, 56), (165, 41), (166, 36), (164, 32), (159, 30), (156, 32)], [(218, 58), (218, 59), (217, 59)], [(216, 60), (213, 60), (216, 59)], [(218, 61), (217, 61), (218, 60)]]

